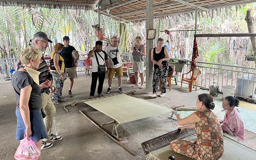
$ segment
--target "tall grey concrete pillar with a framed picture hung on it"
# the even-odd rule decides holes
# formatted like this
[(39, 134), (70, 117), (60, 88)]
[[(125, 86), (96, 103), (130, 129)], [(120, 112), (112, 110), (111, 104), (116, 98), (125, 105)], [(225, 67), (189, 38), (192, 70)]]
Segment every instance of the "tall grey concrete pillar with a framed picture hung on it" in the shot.
[[(148, 29), (154, 29), (154, 0), (147, 0), (146, 7), (146, 37)], [(153, 48), (153, 39), (146, 41), (146, 93), (153, 92), (153, 62), (150, 51)]]

